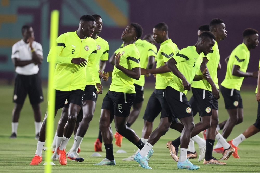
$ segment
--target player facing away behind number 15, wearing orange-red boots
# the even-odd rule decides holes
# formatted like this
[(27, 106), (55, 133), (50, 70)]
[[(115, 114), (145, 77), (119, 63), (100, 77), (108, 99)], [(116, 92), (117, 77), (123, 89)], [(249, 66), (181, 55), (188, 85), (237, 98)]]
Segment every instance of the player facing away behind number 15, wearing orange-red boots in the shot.
[[(157, 48), (152, 43), (153, 43), (152, 34), (147, 34), (144, 36), (143, 40), (138, 39), (135, 42), (135, 46), (137, 47), (137, 49), (140, 53), (141, 68), (151, 69), (154, 66), (154, 59), (155, 59), (155, 56), (157, 53)], [(123, 44), (121, 45), (121, 47), (123, 47)], [(114, 62), (115, 62), (114, 55), (116, 55), (118, 53), (118, 51), (121, 49), (121, 47), (119, 49), (117, 49), (115, 51), (115, 53), (109, 59), (109, 61), (112, 65), (114, 65)], [(135, 100), (132, 105), (132, 110), (130, 111), (129, 118), (126, 123), (127, 127), (130, 127), (135, 122), (135, 120), (138, 118), (138, 115), (141, 111), (142, 104), (144, 101), (144, 83), (145, 83), (144, 78), (145, 78), (144, 75), (141, 75), (139, 80), (133, 79), (136, 93), (135, 93)], [(120, 135), (118, 132), (116, 132), (114, 134), (114, 136), (116, 138), (115, 144), (118, 145), (119, 147), (121, 147), (123, 136)], [(99, 132), (99, 136), (94, 144), (95, 151), (102, 151), (101, 146), (102, 146), (102, 136), (101, 136), (101, 132)], [(130, 156), (129, 158), (123, 159), (123, 160), (129, 160), (129, 159), (133, 160), (134, 155)]]

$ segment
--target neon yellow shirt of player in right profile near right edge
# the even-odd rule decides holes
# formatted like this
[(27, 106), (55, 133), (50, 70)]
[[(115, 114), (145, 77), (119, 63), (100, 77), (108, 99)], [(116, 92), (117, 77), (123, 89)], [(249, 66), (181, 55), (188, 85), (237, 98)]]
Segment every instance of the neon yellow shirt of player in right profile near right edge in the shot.
[(250, 52), (244, 43), (239, 44), (231, 53), (228, 60), (228, 67), (226, 77), (221, 83), (222, 86), (228, 89), (236, 89), (240, 91), (244, 77), (238, 77), (232, 75), (232, 69), (234, 65), (240, 66), (240, 71), (244, 73), (247, 70), (249, 63)]

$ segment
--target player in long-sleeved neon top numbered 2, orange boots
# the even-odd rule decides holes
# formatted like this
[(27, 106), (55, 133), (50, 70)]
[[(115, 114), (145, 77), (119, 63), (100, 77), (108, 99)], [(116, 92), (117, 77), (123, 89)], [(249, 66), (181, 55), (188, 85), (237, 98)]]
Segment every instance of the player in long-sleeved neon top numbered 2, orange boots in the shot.
[[(78, 30), (60, 35), (56, 40), (57, 46), (51, 48), (47, 57), (48, 62), (50, 62), (51, 58), (54, 58), (55, 63), (57, 63), (54, 73), (54, 89), (56, 89), (55, 116), (57, 111), (63, 107), (66, 98), (70, 103), (68, 122), (64, 128), (62, 142), (57, 148), (61, 165), (67, 164), (65, 148), (74, 131), (76, 118), (82, 107), (86, 86), (87, 63), (91, 76), (96, 81), (97, 88), (102, 92), (96, 66), (96, 42), (90, 38), (96, 26), (95, 21), (93, 16), (81, 16)], [(48, 110), (41, 125), (37, 150), (30, 165), (38, 165), (42, 161), (47, 115)]]

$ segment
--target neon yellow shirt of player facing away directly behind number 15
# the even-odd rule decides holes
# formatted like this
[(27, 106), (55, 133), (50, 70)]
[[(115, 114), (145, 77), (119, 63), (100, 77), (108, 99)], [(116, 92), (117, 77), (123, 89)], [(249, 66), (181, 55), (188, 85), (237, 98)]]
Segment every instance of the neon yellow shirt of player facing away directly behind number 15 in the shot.
[[(141, 68), (146, 69), (147, 64), (148, 64), (148, 58), (149, 56), (154, 56), (156, 57), (157, 54), (157, 48), (155, 45), (152, 43), (146, 41), (146, 40), (141, 40), (138, 39), (135, 42), (135, 46), (137, 47), (139, 53), (140, 53), (140, 65)], [(145, 84), (145, 75), (141, 75), (139, 80), (134, 80), (134, 84), (144, 86)]]

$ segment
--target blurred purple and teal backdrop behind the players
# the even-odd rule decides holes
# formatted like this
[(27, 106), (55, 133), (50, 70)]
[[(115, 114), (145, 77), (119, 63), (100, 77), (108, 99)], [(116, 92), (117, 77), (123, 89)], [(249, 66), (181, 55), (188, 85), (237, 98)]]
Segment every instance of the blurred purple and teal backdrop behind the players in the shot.
[[(224, 20), (228, 36), (219, 43), (219, 84), (226, 74), (224, 59), (242, 43), (246, 28), (260, 31), (259, 0), (1, 0), (0, 3), (0, 79), (9, 83), (15, 77), (11, 60), (12, 45), (22, 39), (21, 28), (31, 25), (35, 41), (43, 47), (43, 63), (40, 65), (42, 79), (48, 78), (47, 55), (49, 52), (49, 23), (51, 10), (60, 11), (59, 35), (76, 31), (79, 18), (84, 14), (102, 16), (103, 29), (100, 37), (109, 43), (109, 56), (122, 44), (124, 28), (130, 23), (139, 23), (144, 35), (152, 33), (154, 25), (165, 22), (169, 26), (169, 37), (179, 49), (194, 45), (198, 27), (209, 24), (213, 18)], [(157, 44), (159, 49), (159, 44)], [(258, 70), (260, 49), (250, 51), (248, 71)], [(112, 70), (107, 63), (106, 71)], [(245, 79), (243, 85), (257, 85), (257, 79)], [(147, 82), (155, 82), (149, 77)]]

